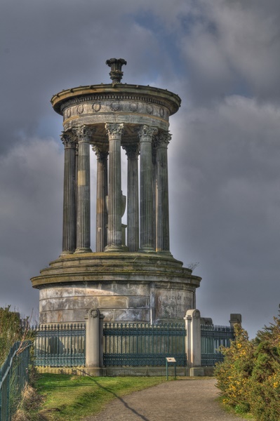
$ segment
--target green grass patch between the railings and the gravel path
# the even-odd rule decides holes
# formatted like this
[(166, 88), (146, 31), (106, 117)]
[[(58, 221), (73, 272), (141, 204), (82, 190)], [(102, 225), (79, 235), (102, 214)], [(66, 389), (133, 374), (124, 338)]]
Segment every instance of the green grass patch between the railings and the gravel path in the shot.
[(121, 396), (164, 381), (165, 377), (41, 374), (35, 385), (37, 392), (45, 396), (39, 408), (39, 419), (78, 421), (96, 415), (112, 399), (121, 399)]

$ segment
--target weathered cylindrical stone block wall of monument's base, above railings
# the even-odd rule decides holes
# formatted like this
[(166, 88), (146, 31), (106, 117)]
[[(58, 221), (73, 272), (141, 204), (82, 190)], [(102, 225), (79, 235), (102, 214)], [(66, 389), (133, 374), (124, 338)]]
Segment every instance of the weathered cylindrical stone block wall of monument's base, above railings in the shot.
[(177, 320), (194, 307), (194, 290), (154, 282), (69, 283), (40, 290), (40, 323), (83, 322), (91, 307), (100, 309), (105, 321)]

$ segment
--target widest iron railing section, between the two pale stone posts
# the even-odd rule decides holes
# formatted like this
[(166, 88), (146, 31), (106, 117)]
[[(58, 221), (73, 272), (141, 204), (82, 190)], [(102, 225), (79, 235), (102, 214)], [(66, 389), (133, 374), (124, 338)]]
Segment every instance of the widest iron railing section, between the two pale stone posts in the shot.
[(173, 356), (186, 366), (185, 323), (104, 323), (103, 363), (109, 366), (164, 366)]

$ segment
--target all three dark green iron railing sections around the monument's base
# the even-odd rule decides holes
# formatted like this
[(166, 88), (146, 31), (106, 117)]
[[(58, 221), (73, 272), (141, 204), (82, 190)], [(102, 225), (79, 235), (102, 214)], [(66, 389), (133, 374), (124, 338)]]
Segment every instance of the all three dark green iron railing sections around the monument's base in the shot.
[[(86, 326), (41, 325), (36, 328), (34, 365), (74, 367), (86, 365)], [(103, 364), (110, 366), (164, 366), (166, 357), (187, 365), (185, 323), (103, 323)], [(231, 326), (201, 325), (201, 366), (223, 361), (220, 346), (234, 340)]]

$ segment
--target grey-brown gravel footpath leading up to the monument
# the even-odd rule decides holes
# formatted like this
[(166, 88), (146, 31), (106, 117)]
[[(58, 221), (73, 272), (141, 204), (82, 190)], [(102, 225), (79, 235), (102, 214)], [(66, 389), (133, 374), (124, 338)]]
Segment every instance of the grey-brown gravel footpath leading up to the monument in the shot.
[(213, 379), (176, 380), (119, 397), (84, 421), (246, 421), (225, 413)]

